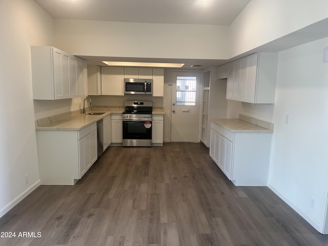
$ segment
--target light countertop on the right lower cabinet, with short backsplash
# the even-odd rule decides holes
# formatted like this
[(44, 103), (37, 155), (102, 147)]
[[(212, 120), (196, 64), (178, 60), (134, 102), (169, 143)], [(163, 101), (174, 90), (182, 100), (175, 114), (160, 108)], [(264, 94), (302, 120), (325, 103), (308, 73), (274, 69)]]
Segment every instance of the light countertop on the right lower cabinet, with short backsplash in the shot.
[(273, 132), (273, 124), (245, 115), (239, 119), (211, 119), (214, 124), (231, 132)]

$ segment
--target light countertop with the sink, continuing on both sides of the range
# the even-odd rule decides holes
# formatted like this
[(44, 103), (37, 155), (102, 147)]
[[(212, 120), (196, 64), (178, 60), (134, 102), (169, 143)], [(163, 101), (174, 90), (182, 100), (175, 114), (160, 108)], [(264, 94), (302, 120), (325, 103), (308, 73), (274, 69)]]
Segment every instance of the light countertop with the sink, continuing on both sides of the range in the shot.
[[(125, 107), (92, 107), (87, 108), (88, 112), (105, 112), (101, 115), (85, 115), (81, 114), (80, 110), (58, 114), (35, 121), (36, 130), (81, 130), (99, 119), (105, 118), (111, 114), (121, 114), (125, 111)], [(153, 114), (164, 114), (162, 108), (153, 108)]]

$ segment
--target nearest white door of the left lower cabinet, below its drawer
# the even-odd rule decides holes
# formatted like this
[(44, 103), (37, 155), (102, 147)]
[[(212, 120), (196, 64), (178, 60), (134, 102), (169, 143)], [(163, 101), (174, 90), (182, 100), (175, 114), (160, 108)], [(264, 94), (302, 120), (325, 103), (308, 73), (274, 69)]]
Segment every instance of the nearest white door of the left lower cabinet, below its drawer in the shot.
[(90, 153), (90, 134), (78, 140), (78, 167), (79, 178), (81, 178), (86, 172), (89, 163), (91, 162)]

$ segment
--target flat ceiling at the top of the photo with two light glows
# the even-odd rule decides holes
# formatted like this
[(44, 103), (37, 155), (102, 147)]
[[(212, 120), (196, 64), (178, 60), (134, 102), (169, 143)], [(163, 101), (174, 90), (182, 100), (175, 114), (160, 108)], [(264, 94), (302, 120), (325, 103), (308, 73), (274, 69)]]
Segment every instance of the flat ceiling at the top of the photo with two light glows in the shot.
[(250, 0), (34, 1), (53, 18), (202, 25), (230, 25), (250, 2)]

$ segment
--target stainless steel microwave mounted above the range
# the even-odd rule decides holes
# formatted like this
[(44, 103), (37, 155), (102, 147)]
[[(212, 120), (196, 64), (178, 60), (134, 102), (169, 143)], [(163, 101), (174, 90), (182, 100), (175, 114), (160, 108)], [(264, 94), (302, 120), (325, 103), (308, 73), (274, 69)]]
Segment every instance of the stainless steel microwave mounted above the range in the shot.
[(125, 78), (124, 94), (153, 94), (153, 79)]

